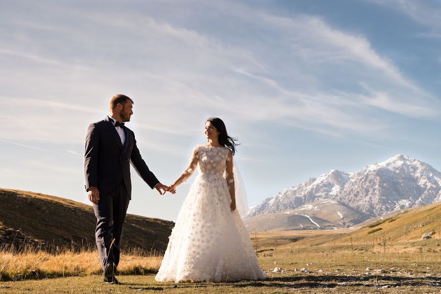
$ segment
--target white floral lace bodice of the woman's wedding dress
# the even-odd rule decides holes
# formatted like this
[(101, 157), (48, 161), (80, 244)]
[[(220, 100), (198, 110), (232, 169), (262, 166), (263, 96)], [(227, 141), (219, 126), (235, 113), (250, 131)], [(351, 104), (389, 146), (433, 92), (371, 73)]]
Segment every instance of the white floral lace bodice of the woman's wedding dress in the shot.
[(197, 145), (194, 150), (198, 158), (199, 172), (201, 174), (224, 175), (226, 162), (231, 161), (228, 155), (230, 149)]

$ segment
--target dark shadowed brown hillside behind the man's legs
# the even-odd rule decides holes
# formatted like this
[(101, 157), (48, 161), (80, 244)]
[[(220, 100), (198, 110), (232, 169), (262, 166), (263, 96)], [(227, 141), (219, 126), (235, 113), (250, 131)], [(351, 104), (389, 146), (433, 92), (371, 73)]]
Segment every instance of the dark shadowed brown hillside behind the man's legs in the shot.
[[(0, 247), (40, 244), (46, 248), (95, 244), (92, 206), (39, 193), (0, 189)], [(127, 215), (123, 247), (165, 250), (174, 223)]]

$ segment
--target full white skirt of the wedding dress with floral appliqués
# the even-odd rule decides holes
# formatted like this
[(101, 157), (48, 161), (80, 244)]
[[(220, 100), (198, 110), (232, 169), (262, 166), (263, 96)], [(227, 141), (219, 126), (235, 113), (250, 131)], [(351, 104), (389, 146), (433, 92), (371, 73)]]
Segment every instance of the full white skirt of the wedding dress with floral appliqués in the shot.
[(156, 281), (257, 280), (260, 268), (225, 178), (199, 173), (169, 237)]

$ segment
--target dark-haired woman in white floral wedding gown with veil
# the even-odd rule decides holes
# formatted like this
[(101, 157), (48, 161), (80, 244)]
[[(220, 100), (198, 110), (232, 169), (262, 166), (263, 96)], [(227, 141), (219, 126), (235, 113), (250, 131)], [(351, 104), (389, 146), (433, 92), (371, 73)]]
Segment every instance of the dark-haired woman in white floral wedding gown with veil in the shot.
[(263, 279), (266, 273), (257, 262), (238, 212), (246, 211), (233, 164), (236, 139), (228, 136), (219, 118), (207, 120), (205, 136), (208, 143), (193, 149), (189, 166), (170, 186), (174, 193), (199, 165), (155, 280), (177, 283)]

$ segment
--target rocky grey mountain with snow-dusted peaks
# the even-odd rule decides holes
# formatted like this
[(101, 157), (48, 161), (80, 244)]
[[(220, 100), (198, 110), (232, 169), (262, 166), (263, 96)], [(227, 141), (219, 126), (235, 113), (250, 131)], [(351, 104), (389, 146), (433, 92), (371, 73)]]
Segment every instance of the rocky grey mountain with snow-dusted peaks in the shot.
[(441, 173), (405, 155), (347, 173), (332, 170), (251, 207), (246, 218), (334, 200), (370, 217), (441, 200)]

